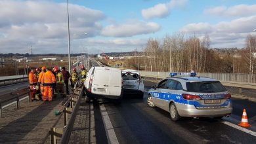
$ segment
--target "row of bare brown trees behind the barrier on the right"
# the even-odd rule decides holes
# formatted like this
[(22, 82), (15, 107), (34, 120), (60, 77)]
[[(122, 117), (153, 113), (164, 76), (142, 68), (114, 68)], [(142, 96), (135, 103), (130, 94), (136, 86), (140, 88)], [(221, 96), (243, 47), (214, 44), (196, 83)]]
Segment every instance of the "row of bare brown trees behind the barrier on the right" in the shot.
[(143, 56), (129, 60), (129, 65), (146, 71), (198, 73), (255, 73), (256, 36), (247, 35), (245, 48), (216, 50), (210, 37), (185, 36), (182, 33), (148, 39)]

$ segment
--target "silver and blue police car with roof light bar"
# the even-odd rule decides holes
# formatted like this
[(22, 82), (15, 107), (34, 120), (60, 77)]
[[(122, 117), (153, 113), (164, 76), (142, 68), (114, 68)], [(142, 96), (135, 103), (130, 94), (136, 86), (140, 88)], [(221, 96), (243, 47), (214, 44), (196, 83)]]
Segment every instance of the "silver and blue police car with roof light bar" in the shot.
[(148, 105), (181, 117), (217, 117), (232, 113), (231, 95), (221, 82), (196, 73), (170, 73), (148, 91)]

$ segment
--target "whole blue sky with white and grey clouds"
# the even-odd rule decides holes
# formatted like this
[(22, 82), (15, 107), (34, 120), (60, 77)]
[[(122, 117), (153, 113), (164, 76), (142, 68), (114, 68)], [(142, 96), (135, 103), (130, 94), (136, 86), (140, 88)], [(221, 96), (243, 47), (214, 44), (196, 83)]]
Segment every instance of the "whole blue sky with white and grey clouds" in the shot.
[[(211, 48), (256, 35), (255, 0), (70, 0), (71, 53), (142, 51), (148, 39), (207, 34)], [(67, 0), (0, 0), (0, 53), (67, 54)]]

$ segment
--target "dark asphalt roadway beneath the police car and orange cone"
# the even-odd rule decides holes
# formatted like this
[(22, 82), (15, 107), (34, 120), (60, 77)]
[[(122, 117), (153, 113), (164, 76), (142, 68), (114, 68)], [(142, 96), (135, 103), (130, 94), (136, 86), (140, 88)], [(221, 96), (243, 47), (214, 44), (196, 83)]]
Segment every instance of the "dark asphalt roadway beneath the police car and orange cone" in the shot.
[[(149, 89), (154, 82), (144, 81), (144, 84)], [(234, 111), (231, 118), (182, 118), (173, 122), (168, 112), (149, 107), (146, 98), (144, 92), (144, 99), (125, 95), (119, 105), (108, 100), (96, 101), (95, 109), (104, 105), (110, 119), (110, 122), (103, 122), (105, 129), (100, 124), (100, 119), (96, 120), (97, 141), (100, 139), (100, 143), (107, 143), (108, 136), (100, 132), (105, 132), (106, 125), (111, 123), (113, 128), (108, 129), (108, 133), (110, 137), (114, 137), (110, 131), (114, 130), (119, 143), (256, 143), (255, 135), (242, 131), (251, 130), (254, 134), (256, 132), (256, 103), (253, 101), (233, 99)], [(233, 128), (228, 125), (236, 126), (240, 122), (244, 108), (252, 127), (238, 130), (239, 126)], [(95, 111), (95, 115), (100, 117), (98, 113), (100, 112)]]

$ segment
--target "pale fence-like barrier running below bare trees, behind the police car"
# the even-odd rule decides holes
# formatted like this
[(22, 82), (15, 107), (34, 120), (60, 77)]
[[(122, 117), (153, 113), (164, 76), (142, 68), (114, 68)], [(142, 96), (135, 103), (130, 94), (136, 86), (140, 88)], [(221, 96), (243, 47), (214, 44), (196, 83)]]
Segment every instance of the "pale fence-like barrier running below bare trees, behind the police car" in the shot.
[[(156, 79), (165, 79), (169, 77), (169, 72), (156, 71), (140, 71), (143, 77), (154, 77)], [(197, 73), (200, 77), (210, 77), (217, 79), (223, 83), (224, 86), (234, 86), (238, 88), (256, 89), (256, 75), (243, 73)]]

